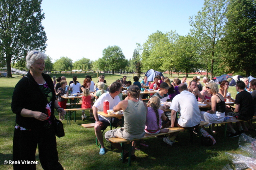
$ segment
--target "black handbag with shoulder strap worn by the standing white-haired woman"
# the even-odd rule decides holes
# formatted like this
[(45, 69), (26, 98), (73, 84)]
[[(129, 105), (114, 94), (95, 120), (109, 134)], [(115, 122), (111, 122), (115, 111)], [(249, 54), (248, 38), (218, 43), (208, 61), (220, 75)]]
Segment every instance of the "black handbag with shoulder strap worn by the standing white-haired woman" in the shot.
[[(33, 80), (31, 80), (28, 76), (25, 76), (26, 78), (28, 78), (28, 80), (34, 82)], [(36, 82), (34, 82), (36, 84)], [(36, 84), (38, 85), (38, 84)], [(38, 88), (39, 89), (39, 88)], [(42, 93), (42, 95), (44, 96), (45, 100), (48, 102), (47, 98), (45, 97), (44, 93), (39, 89), (39, 91)], [(48, 102), (49, 104), (49, 102)], [(50, 106), (50, 104), (49, 104)], [(65, 136), (65, 132), (64, 132), (64, 127), (63, 127), (63, 123), (56, 119), (55, 115), (52, 114), (53, 120), (54, 120), (54, 130), (55, 130), (55, 135), (57, 137), (64, 137)]]

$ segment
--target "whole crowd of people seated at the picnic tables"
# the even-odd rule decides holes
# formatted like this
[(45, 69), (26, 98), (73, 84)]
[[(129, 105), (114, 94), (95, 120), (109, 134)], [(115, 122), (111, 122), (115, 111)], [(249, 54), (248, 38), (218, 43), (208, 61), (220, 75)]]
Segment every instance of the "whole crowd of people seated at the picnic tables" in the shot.
[[(76, 77), (73, 77), (73, 82), (70, 82), (70, 90), (76, 91)], [(56, 81), (63, 80), (57, 78)], [(65, 79), (66, 80), (66, 79)], [(127, 81), (127, 77), (123, 76), (120, 80), (116, 80), (108, 86), (104, 76), (98, 77), (98, 83), (92, 84), (90, 77), (85, 78), (82, 86), (80, 86), (80, 92), (83, 92), (83, 105), (82, 107), (92, 108), (93, 118), (95, 119), (95, 135), (101, 145), (99, 154), (104, 155), (106, 149), (104, 147), (102, 130), (110, 123), (108, 117), (98, 115), (98, 111), (103, 110), (103, 103), (105, 100), (110, 102), (110, 109), (118, 111), (120, 109), (124, 110), (124, 127), (120, 129), (115, 129), (112, 131), (107, 131), (105, 133), (105, 138), (107, 141), (110, 137), (119, 137), (127, 140), (132, 140), (134, 138), (140, 138), (147, 134), (157, 134), (160, 132), (167, 132), (168, 129), (163, 129), (164, 127), (182, 127), (184, 129), (197, 129), (200, 121), (205, 121), (211, 126), (211, 131), (214, 131), (214, 123), (221, 123), (224, 121), (225, 115), (230, 115), (231, 113), (237, 115), (238, 119), (248, 121), (252, 119), (255, 115), (254, 108), (256, 107), (256, 91), (250, 94), (248, 91), (256, 89), (256, 80), (250, 82), (248, 85), (248, 79), (244, 78), (243, 81), (239, 81), (236, 84), (236, 90), (238, 94), (236, 99), (230, 98), (228, 96), (228, 81), (224, 80), (219, 82), (218, 86), (215, 82), (210, 82), (207, 77), (202, 78), (202, 84), (200, 83), (200, 76), (194, 76), (193, 80), (187, 82), (186, 76), (182, 77), (180, 80), (175, 77), (172, 81), (164, 76), (156, 76), (153, 82), (148, 82), (148, 77), (144, 76), (139, 82), (139, 77), (134, 76), (133, 82)], [(56, 83), (55, 86), (57, 86)], [(63, 82), (60, 82), (60, 87), (64, 89)], [(78, 84), (79, 85), (79, 84)], [(59, 85), (58, 85), (59, 86)], [(93, 88), (91, 88), (93, 86)], [(157, 90), (156, 93), (152, 95), (142, 94), (140, 96), (140, 90), (143, 91), (145, 86), (152, 90)], [(122, 88), (126, 87), (127, 97), (122, 100)], [(93, 89), (93, 90), (92, 90)], [(96, 102), (93, 105), (92, 96), (90, 96), (90, 91), (96, 92)], [(65, 91), (64, 91), (65, 92)], [(66, 93), (66, 92), (65, 92)], [(56, 93), (56, 96), (59, 94)], [(118, 97), (119, 96), (119, 97)], [(244, 97), (246, 96), (246, 97)], [(142, 101), (142, 98), (150, 98), (148, 104)], [(236, 108), (232, 109), (230, 106), (225, 106), (225, 100), (230, 99), (236, 104)], [(86, 102), (85, 102), (86, 100)], [(61, 102), (61, 101), (60, 101)], [(161, 103), (172, 102), (170, 104), (170, 112), (161, 110)], [(209, 109), (198, 107), (198, 102), (209, 105)], [(60, 104), (60, 106), (62, 106)], [(139, 111), (138, 111), (139, 110)], [(249, 112), (250, 110), (250, 112)], [(179, 113), (179, 118), (176, 113)], [(136, 121), (133, 119), (136, 116)], [(84, 120), (86, 116), (82, 113), (82, 119)], [(116, 126), (120, 125), (120, 120), (116, 119)], [(248, 122), (249, 123), (249, 122)], [(244, 131), (254, 130), (254, 127), (249, 123), (247, 128), (244, 122), (237, 123), (238, 131), (232, 127), (229, 123), (228, 127), (231, 130), (229, 137), (236, 137)], [(133, 128), (131, 128), (133, 127)], [(143, 128), (142, 128), (143, 127)], [(172, 133), (169, 136), (163, 137), (163, 141), (168, 145), (173, 145), (175, 143), (175, 138), (178, 133)], [(120, 145), (112, 144), (117, 149), (121, 150)], [(136, 143), (133, 143), (133, 148), (135, 148)], [(128, 152), (125, 151), (124, 158), (128, 157)], [(134, 150), (132, 150), (132, 159), (136, 159)]]

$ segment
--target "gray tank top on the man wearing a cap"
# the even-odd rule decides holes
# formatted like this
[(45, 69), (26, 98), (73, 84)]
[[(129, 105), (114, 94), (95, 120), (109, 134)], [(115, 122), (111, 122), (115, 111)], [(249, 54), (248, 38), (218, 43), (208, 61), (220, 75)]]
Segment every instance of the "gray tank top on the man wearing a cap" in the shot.
[(128, 106), (124, 110), (124, 129), (133, 135), (144, 132), (147, 110), (142, 101), (128, 100)]

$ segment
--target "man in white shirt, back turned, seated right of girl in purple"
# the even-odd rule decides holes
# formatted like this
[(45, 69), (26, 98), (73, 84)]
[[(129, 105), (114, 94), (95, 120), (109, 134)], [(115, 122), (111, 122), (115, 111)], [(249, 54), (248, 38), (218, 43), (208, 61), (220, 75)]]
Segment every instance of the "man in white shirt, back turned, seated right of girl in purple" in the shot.
[[(200, 125), (201, 114), (194, 94), (188, 92), (186, 84), (178, 86), (179, 95), (172, 99), (170, 106), (171, 112), (171, 125), (169, 127), (182, 127), (184, 129), (195, 129)], [(180, 113), (180, 118), (177, 119), (176, 113)], [(165, 137), (164, 142), (168, 145), (174, 143), (177, 133), (172, 133), (172, 136)]]

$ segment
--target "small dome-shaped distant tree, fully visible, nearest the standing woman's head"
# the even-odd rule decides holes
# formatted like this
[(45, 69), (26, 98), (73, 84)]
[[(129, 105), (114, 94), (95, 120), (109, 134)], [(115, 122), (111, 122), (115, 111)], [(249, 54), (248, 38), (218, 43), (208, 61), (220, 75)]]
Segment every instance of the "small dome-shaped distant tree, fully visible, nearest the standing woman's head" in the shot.
[(69, 57), (60, 57), (53, 64), (53, 68), (56, 71), (71, 71), (73, 68), (72, 59)]

